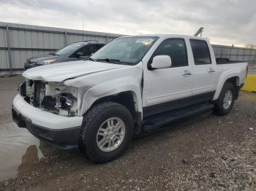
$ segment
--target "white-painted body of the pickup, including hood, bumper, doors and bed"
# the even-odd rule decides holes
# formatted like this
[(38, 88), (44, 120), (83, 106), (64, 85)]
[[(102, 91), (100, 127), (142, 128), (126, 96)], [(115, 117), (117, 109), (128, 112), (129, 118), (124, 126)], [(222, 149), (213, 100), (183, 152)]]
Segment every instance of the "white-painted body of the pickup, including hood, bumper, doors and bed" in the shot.
[[(74, 124), (81, 124), (83, 114), (90, 109), (95, 101), (108, 95), (131, 92), (134, 98), (135, 110), (140, 112), (143, 118), (143, 107), (145, 106), (187, 98), (210, 91), (215, 91), (213, 100), (216, 100), (228, 78), (238, 77), (237, 85), (242, 85), (245, 82), (247, 63), (217, 65), (214, 51), (208, 39), (184, 35), (140, 36), (157, 36), (158, 39), (135, 66), (99, 61), (75, 61), (39, 66), (23, 73), (23, 77), (27, 79), (62, 82), (64, 85), (77, 87), (79, 117), (56, 116), (56, 119), (59, 120), (59, 127), (57, 127), (58, 123), (50, 125), (56, 121), (50, 116), (56, 114), (45, 114), (45, 111), (35, 110), (32, 108), (33, 106), (20, 106), (20, 95), (15, 98), (13, 105), (18, 109), (18, 112), (31, 119), (36, 125), (45, 126), (46, 128), (72, 128)], [(187, 47), (188, 66), (148, 70), (148, 61), (151, 55), (165, 39), (184, 39)], [(206, 66), (195, 65), (189, 39), (200, 39), (207, 42), (211, 53), (211, 64)], [(185, 75), (184, 72), (190, 74), (187, 75), (186, 73)], [(40, 112), (42, 112), (42, 115), (39, 114)]]

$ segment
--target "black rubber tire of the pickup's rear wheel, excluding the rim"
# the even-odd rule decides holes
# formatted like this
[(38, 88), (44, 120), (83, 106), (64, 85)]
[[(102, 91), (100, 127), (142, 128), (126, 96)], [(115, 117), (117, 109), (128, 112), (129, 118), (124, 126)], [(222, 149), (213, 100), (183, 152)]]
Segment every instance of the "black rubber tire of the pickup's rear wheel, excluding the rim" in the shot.
[[(224, 98), (225, 98), (225, 93), (227, 93), (227, 91), (230, 91), (232, 93), (232, 101), (231, 104), (228, 108), (224, 107)], [(217, 99), (217, 101), (214, 104), (214, 113), (218, 114), (218, 115), (226, 115), (229, 114), (229, 112), (231, 111), (231, 109), (233, 108), (234, 105), (234, 101), (235, 101), (235, 87), (233, 84), (231, 84), (230, 82), (225, 82), (225, 84), (222, 87), (222, 91), (219, 94), (219, 98)]]

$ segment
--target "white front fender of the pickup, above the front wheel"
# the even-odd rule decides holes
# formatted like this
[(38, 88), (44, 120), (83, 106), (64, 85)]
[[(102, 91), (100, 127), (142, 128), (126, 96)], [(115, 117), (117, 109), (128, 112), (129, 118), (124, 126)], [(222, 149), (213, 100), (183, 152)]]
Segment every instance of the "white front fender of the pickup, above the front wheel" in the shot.
[(121, 65), (119, 69), (99, 71), (75, 79), (67, 79), (64, 85), (78, 87), (79, 116), (85, 114), (99, 98), (127, 91), (132, 92), (135, 111), (142, 112), (142, 75), (143, 63), (140, 62), (136, 66)]

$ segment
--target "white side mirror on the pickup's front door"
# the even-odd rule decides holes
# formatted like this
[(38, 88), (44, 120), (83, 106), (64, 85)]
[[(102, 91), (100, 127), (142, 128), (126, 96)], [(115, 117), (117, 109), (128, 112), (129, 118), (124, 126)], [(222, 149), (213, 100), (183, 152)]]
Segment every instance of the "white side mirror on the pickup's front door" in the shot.
[(169, 55), (157, 55), (153, 58), (151, 63), (151, 70), (154, 69), (167, 69), (172, 66), (172, 61)]

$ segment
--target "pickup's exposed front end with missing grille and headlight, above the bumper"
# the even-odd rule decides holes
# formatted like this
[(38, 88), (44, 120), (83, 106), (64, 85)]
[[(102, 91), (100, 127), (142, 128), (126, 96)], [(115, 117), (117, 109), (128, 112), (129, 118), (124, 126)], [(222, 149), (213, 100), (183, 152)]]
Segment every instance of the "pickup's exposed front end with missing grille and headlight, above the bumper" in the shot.
[(78, 88), (62, 82), (26, 79), (20, 84), (20, 94), (31, 106), (65, 117), (78, 116)]

